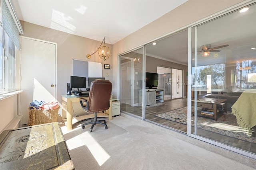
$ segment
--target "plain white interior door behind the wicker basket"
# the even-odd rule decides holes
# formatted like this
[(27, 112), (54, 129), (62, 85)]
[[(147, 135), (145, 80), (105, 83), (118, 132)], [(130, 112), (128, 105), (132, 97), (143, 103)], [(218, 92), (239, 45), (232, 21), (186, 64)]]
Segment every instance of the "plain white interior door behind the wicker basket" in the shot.
[(20, 89), (22, 125), (28, 124), (29, 104), (33, 100), (55, 101), (56, 44), (21, 38)]

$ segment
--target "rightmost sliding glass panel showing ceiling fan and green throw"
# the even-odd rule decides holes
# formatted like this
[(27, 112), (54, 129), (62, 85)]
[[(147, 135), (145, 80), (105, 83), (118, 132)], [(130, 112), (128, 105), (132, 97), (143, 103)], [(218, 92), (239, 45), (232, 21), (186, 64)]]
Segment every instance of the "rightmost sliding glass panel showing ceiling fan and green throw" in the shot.
[(192, 28), (191, 130), (255, 154), (256, 4), (246, 7)]

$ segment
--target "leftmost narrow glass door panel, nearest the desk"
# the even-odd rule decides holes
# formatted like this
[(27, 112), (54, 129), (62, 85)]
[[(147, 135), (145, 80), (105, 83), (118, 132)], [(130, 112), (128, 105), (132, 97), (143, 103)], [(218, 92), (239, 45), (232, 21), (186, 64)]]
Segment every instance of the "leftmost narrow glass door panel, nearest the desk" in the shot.
[(120, 111), (142, 117), (142, 48), (120, 56)]

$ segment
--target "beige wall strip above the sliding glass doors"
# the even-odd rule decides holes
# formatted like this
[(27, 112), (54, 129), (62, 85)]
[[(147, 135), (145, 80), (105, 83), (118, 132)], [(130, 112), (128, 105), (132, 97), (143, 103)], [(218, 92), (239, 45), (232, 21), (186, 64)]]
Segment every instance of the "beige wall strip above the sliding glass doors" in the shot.
[[(143, 45), (148, 41), (152, 41), (198, 20), (202, 20), (203, 18), (242, 1), (244, 0), (188, 0), (181, 6), (178, 6), (174, 10), (158, 18), (158, 20), (155, 20), (130, 34), (113, 45), (113, 77), (117, 77), (118, 54)], [(117, 94), (118, 92), (115, 90), (118, 89), (118, 83), (116, 80), (113, 80), (113, 82), (115, 82), (113, 84), (114, 94)]]

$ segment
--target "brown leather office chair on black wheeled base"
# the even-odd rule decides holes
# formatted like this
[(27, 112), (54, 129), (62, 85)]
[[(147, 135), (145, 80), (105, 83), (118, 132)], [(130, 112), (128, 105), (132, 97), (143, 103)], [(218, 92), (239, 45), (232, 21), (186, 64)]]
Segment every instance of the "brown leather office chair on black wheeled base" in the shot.
[[(104, 125), (105, 129), (108, 129), (105, 120), (97, 120), (97, 112), (106, 111), (107, 109), (109, 109), (111, 92), (112, 83), (110, 81), (96, 79), (91, 82), (88, 100), (81, 98), (80, 104), (83, 110), (87, 113), (91, 114), (92, 112), (94, 112), (94, 119), (82, 124), (82, 129), (84, 129), (84, 126), (88, 124), (92, 124), (90, 132), (92, 132), (92, 128), (96, 124)], [(84, 103), (86, 105), (84, 105)], [(104, 123), (102, 123), (102, 121)]]

